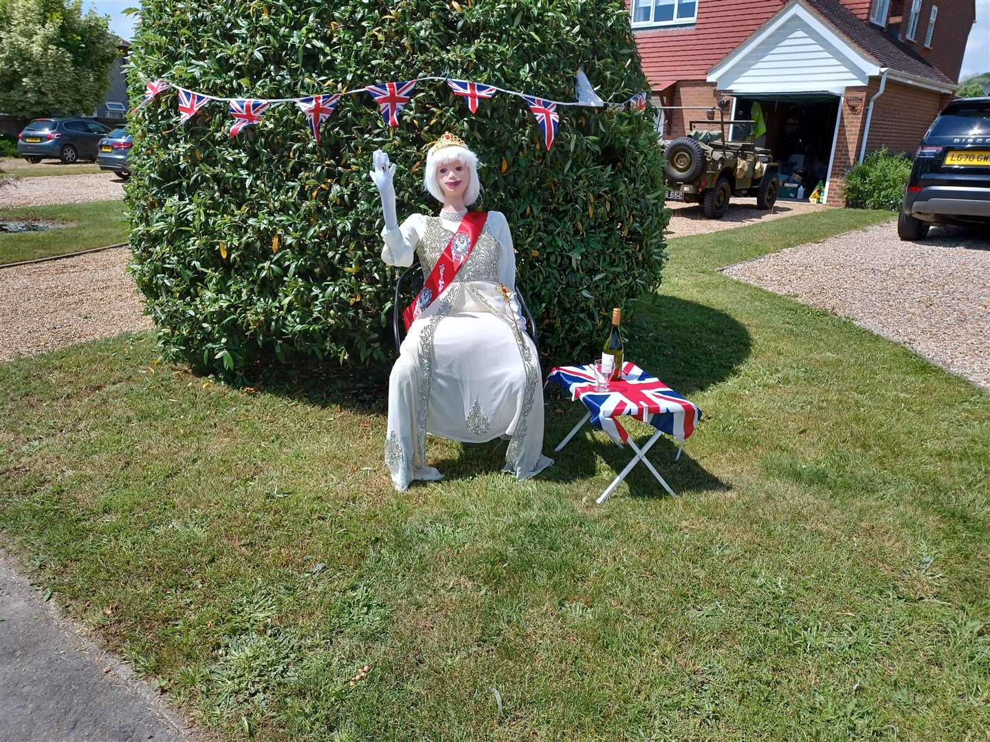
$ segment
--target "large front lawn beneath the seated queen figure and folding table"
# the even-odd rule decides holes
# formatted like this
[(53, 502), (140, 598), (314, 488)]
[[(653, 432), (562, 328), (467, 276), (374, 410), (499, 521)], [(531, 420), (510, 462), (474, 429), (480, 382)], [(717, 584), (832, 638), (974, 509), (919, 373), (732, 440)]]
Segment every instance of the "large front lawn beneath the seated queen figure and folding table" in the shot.
[(231, 739), (985, 739), (990, 395), (717, 271), (888, 218), (672, 241), (627, 352), (705, 413), (650, 453), (676, 499), (589, 504), (601, 433), (522, 484), (433, 440), (397, 494), (377, 379), (236, 391), (131, 335), (0, 365), (0, 528)]

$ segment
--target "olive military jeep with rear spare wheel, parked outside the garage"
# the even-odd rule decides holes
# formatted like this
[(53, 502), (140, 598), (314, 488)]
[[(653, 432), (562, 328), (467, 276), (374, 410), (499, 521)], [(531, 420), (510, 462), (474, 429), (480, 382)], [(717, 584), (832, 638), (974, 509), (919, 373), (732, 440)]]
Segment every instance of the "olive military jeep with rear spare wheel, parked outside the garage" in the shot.
[[(777, 165), (770, 161), (770, 150), (753, 144), (749, 136), (752, 124), (691, 121), (687, 137), (664, 142), (667, 200), (701, 204), (708, 219), (726, 216), (733, 194), (755, 196), (757, 207), (770, 209), (780, 193), (780, 178)], [(720, 129), (705, 130), (698, 125)], [(743, 139), (729, 141), (727, 126), (737, 126)]]

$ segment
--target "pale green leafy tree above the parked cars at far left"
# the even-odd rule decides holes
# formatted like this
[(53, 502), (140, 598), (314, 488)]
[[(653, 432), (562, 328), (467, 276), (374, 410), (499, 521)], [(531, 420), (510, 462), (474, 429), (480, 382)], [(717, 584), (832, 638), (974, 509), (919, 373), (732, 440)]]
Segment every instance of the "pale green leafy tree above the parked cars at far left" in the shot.
[(92, 114), (117, 53), (108, 18), (83, 15), (82, 0), (0, 0), (0, 111)]

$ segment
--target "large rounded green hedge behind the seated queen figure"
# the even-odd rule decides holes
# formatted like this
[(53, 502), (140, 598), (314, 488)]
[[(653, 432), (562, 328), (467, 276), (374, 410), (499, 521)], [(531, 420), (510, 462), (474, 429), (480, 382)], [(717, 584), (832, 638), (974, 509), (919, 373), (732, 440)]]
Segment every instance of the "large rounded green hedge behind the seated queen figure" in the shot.
[[(573, 100), (583, 67), (607, 99), (646, 89), (621, 0), (146, 0), (131, 94), (144, 79), (224, 97), (280, 98), (445, 75)], [(478, 208), (506, 214), (541, 349), (597, 347), (613, 306), (659, 283), (662, 166), (651, 117), (560, 108), (549, 152), (524, 101), (471, 116), (421, 82), (397, 129), (366, 94), (346, 96), (313, 139), (295, 105), (230, 140), (226, 104), (176, 126), (166, 91), (133, 118), (128, 186), (133, 272), (166, 357), (240, 376), (253, 363), (387, 361), (396, 271), (379, 257), (371, 153), (397, 163), (400, 219), (436, 213), (425, 148), (445, 131), (482, 163)]]

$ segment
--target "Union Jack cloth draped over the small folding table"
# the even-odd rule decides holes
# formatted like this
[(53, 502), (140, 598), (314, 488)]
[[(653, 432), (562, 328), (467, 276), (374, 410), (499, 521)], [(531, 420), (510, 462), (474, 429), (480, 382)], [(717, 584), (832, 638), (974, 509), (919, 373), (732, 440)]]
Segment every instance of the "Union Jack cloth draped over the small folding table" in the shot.
[(560, 366), (550, 371), (546, 383), (553, 382), (580, 400), (591, 413), (591, 424), (605, 430), (616, 443), (629, 440), (619, 417), (629, 415), (657, 430), (684, 440), (701, 420), (701, 411), (670, 387), (650, 376), (632, 361), (623, 364), (622, 381), (609, 382), (605, 392), (595, 391), (595, 374), (588, 366)]

